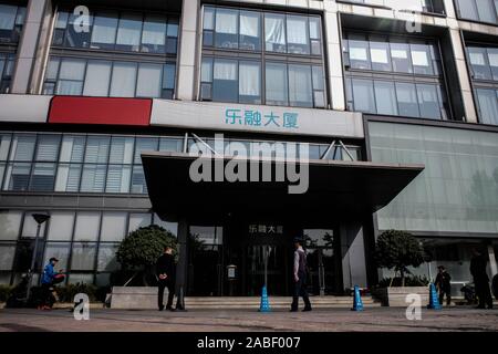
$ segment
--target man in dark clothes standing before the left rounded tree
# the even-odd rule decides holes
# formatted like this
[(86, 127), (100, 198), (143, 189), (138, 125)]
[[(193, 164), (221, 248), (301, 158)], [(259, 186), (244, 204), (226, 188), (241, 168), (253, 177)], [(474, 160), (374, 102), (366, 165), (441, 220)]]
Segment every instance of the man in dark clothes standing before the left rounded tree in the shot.
[(166, 304), (166, 310), (175, 311), (173, 309), (173, 296), (175, 296), (175, 257), (173, 256), (173, 248), (166, 246), (164, 248), (164, 253), (157, 259), (156, 272), (158, 278), (158, 294), (157, 294), (157, 305), (159, 311), (164, 310), (164, 290), (168, 289), (168, 302)]

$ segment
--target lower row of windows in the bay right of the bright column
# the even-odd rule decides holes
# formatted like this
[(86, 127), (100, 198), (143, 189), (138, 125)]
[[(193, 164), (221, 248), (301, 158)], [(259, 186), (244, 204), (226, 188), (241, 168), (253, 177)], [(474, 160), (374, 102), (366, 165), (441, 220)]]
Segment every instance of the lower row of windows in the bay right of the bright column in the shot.
[(447, 118), (445, 94), (438, 85), (346, 80), (349, 110), (370, 114)]

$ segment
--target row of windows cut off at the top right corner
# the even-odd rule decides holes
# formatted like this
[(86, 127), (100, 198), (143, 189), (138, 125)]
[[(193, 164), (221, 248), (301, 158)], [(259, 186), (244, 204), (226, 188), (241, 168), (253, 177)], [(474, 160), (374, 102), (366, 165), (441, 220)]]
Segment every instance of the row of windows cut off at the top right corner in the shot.
[(460, 19), (498, 24), (498, 0), (455, 0)]

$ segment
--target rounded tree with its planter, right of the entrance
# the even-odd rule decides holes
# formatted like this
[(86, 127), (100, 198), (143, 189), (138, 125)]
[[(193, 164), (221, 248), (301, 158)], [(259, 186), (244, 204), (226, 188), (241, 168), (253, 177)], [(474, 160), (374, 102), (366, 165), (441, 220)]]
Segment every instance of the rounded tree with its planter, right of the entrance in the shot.
[(423, 302), (428, 301), (428, 280), (411, 277), (408, 269), (426, 261), (423, 244), (409, 232), (384, 231), (377, 238), (374, 259), (378, 268), (394, 270), (395, 273), (394, 278), (382, 280), (373, 292), (384, 305), (405, 306), (406, 295), (414, 293), (419, 294)]

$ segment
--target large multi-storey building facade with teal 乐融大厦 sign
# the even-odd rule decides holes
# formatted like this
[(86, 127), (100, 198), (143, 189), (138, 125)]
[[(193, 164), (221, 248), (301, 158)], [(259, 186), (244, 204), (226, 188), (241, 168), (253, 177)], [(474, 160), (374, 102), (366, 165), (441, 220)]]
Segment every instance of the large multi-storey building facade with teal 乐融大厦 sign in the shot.
[[(152, 223), (178, 235), (191, 295), (257, 295), (264, 273), (289, 294), (295, 235), (317, 295), (387, 277), (387, 229), (456, 292), (475, 247), (496, 274), (497, 25), (491, 0), (0, 0), (0, 283), (29, 269), (37, 211), (37, 270), (58, 257), (70, 283), (108, 285), (120, 241)], [(320, 188), (295, 206), (181, 189), (172, 156), (216, 134), (249, 155), (309, 144)]]

